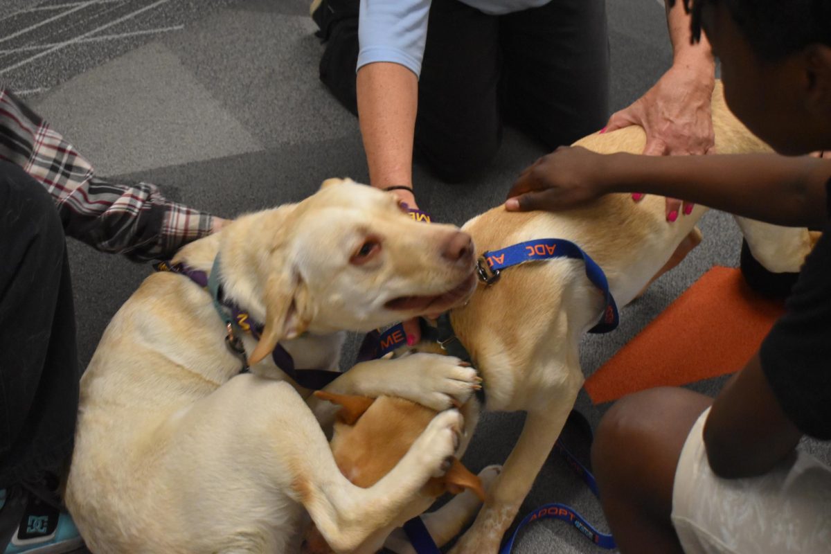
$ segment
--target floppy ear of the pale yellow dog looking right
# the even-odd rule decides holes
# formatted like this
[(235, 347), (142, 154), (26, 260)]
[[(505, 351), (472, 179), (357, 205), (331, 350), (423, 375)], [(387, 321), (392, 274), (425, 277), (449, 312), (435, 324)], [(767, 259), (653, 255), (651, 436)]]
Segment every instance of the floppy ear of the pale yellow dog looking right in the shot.
[(293, 339), (306, 331), (308, 315), (307, 288), (297, 276), (270, 275), (265, 286), (265, 328), (257, 347), (248, 356), (254, 365), (271, 354), (279, 341)]

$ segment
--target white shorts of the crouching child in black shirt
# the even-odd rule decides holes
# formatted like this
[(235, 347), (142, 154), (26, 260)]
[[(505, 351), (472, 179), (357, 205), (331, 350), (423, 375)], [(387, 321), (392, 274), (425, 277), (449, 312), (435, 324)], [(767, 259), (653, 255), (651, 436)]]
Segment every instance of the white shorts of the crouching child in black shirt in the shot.
[(684, 552), (831, 552), (831, 468), (798, 450), (794, 463), (761, 477), (716, 477), (702, 437), (709, 413), (686, 438), (672, 489), (672, 523)]

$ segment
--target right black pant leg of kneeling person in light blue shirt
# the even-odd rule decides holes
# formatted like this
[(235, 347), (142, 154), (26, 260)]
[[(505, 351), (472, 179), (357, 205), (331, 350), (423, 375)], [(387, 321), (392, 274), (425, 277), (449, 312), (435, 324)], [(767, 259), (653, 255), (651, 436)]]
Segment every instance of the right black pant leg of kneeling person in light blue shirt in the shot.
[(606, 124), (605, 0), (553, 0), (500, 18), (505, 119), (550, 150)]

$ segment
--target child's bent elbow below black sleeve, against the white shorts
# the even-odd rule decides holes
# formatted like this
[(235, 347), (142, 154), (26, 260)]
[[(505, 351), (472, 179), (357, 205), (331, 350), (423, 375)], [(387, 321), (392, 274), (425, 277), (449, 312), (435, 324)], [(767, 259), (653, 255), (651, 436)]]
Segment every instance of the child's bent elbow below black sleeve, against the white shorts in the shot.
[(727, 382), (704, 426), (710, 467), (723, 478), (770, 471), (793, 452), (801, 437), (770, 389), (759, 355)]

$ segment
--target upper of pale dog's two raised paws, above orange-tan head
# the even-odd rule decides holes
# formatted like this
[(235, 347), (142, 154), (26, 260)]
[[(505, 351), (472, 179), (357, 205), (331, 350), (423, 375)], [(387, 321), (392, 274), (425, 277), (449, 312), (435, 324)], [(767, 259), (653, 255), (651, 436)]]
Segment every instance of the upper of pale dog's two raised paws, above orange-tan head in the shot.
[(417, 353), (401, 358), (409, 384), (403, 396), (437, 411), (460, 406), (482, 388), (476, 370), (450, 355)]

